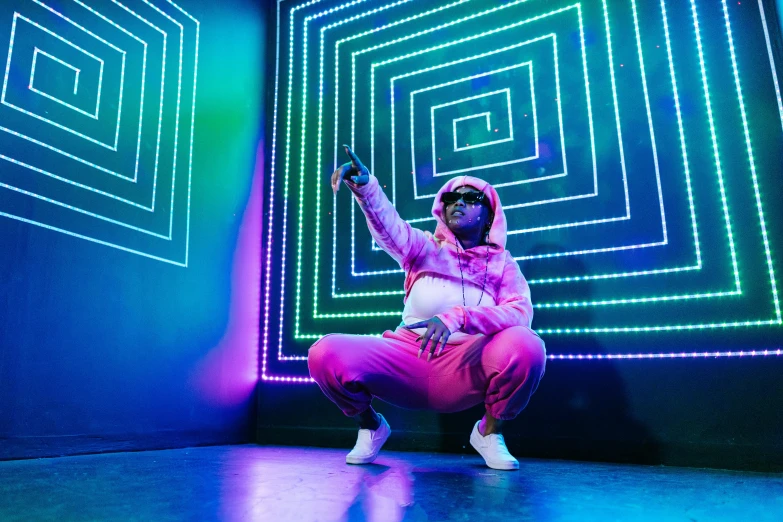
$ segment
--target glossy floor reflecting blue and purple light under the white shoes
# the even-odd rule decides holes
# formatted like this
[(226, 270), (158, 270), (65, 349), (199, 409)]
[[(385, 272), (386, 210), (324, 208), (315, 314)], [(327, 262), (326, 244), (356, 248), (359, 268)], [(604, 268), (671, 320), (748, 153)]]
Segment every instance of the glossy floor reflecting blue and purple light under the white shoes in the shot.
[(0, 462), (0, 521), (783, 520), (783, 476), (219, 446)]

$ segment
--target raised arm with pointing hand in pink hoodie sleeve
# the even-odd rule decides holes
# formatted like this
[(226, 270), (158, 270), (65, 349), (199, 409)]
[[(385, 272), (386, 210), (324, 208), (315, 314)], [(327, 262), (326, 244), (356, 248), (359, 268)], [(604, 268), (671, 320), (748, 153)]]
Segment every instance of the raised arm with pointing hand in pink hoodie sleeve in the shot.
[(349, 147), (346, 153), (351, 158), (332, 175), (332, 188), (339, 190), (340, 179), (353, 192), (362, 209), (370, 234), (387, 254), (392, 256), (404, 269), (410, 269), (410, 263), (424, 247), (427, 237), (424, 232), (411, 227), (397, 213), (397, 209), (384, 194), (378, 183), (361, 160)]

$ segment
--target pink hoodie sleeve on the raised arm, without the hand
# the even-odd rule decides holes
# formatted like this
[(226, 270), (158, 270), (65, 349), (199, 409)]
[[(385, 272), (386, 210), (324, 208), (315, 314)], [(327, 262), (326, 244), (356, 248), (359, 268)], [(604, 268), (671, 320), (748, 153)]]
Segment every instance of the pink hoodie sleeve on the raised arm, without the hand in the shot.
[(365, 185), (357, 185), (348, 179), (343, 181), (356, 197), (378, 246), (403, 270), (409, 271), (411, 262), (427, 242), (424, 232), (411, 227), (400, 217), (375, 176), (370, 175), (370, 181)]

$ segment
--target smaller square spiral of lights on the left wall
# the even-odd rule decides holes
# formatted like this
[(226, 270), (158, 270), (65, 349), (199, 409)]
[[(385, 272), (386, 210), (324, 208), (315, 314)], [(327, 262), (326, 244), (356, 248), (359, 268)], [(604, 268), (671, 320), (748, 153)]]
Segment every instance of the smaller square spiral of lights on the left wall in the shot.
[(0, 215), (188, 264), (199, 22), (170, 0), (12, 0)]

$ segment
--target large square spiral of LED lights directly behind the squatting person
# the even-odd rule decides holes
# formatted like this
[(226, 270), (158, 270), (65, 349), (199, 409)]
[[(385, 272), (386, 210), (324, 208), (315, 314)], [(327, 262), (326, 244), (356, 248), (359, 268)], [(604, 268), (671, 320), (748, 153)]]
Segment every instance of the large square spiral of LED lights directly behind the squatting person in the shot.
[[(294, 361), (322, 335), (400, 320), (402, 270), (329, 187), (342, 143), (424, 230), (450, 177), (497, 187), (545, 338), (778, 331), (764, 183), (781, 174), (783, 107), (766, 9), (279, 0), (264, 378), (307, 381)], [(550, 357), (744, 354), (616, 346)]]

